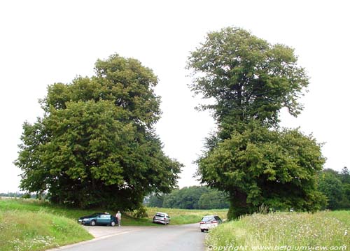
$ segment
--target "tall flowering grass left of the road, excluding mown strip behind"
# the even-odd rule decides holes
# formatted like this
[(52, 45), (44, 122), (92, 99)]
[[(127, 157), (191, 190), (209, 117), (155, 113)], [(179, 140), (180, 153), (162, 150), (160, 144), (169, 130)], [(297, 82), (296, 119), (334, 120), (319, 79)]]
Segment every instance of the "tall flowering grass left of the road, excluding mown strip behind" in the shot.
[(0, 250), (46, 250), (92, 238), (76, 221), (45, 210), (0, 210)]

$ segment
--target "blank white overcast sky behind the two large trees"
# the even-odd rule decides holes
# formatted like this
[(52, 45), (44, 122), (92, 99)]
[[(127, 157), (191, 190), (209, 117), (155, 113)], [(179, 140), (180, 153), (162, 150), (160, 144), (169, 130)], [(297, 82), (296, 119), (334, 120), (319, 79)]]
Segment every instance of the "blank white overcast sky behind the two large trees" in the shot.
[(185, 165), (179, 186), (197, 185), (193, 162), (215, 123), (194, 109), (200, 99), (188, 88), (186, 61), (208, 32), (229, 26), (295, 49), (309, 92), (301, 115), (282, 112), (281, 125), (324, 143), (325, 168), (349, 167), (349, 7), (347, 0), (0, 1), (0, 192), (19, 191), (13, 162), (22, 124), (43, 115), (38, 99), (48, 85), (92, 76), (94, 62), (113, 53), (158, 76), (157, 134), (165, 153)]

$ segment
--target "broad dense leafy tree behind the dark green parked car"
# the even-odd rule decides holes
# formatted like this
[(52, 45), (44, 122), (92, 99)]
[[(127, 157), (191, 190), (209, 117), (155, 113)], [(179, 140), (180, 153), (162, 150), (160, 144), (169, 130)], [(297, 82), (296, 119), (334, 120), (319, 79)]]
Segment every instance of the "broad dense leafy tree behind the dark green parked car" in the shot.
[(158, 78), (119, 55), (98, 60), (95, 72), (50, 85), (45, 115), (23, 125), (21, 187), (82, 208), (139, 208), (147, 194), (170, 192), (181, 168), (153, 129)]

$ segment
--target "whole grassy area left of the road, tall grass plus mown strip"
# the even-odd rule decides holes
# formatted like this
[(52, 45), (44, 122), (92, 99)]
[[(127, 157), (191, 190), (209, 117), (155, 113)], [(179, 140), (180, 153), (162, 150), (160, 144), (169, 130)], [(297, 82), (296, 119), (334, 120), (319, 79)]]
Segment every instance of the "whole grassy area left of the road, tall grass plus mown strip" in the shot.
[(35, 199), (0, 199), (0, 250), (47, 250), (90, 240), (76, 222), (86, 213)]

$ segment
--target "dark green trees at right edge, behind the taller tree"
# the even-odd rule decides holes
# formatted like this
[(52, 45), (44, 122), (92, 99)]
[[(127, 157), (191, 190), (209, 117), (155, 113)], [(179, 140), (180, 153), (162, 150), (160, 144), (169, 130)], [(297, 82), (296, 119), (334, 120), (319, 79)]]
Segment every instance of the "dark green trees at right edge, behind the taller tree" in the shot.
[(337, 172), (324, 169), (318, 174), (318, 190), (327, 197), (325, 208), (331, 210), (350, 208), (350, 171), (347, 167)]

